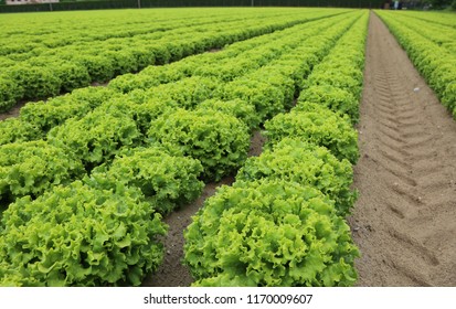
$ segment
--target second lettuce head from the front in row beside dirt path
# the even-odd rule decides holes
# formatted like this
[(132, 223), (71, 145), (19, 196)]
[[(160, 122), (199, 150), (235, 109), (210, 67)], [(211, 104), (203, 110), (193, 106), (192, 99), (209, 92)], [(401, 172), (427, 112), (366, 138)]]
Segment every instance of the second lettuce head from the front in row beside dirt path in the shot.
[(339, 161), (325, 147), (285, 138), (259, 157), (251, 157), (236, 181), (282, 179), (320, 190), (336, 201), (337, 213), (346, 216), (357, 199), (350, 190), (353, 171), (348, 160)]

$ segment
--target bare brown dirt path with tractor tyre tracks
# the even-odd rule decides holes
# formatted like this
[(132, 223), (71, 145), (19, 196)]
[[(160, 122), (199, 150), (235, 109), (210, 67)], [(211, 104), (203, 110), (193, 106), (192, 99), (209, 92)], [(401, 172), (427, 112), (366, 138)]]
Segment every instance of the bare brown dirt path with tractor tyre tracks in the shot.
[(456, 122), (372, 14), (350, 224), (359, 286), (456, 286)]

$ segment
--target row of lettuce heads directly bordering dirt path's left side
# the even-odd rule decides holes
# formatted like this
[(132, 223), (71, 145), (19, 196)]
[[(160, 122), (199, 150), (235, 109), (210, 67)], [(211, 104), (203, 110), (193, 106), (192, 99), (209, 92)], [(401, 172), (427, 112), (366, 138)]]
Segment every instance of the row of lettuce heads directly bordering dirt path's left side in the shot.
[(367, 21), (364, 14), (315, 66), (297, 106), (266, 121), (265, 151), (247, 159), (234, 184), (193, 216), (184, 262), (195, 286), (356, 281), (359, 252), (343, 216), (357, 195), (350, 190), (350, 162), (358, 158), (351, 124), (358, 119)]

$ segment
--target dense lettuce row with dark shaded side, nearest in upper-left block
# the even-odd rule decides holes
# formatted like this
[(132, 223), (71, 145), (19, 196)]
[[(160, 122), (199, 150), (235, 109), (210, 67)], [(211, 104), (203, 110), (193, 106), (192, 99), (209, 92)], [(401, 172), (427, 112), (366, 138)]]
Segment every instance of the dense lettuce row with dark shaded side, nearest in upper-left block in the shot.
[(0, 111), (22, 99), (40, 99), (106, 82), (116, 75), (138, 72), (151, 64), (165, 64), (191, 54), (246, 40), (264, 33), (325, 18), (339, 11), (300, 15), (279, 15), (266, 20), (215, 22), (170, 30), (166, 35), (150, 33), (108, 41), (35, 49), (0, 60)]

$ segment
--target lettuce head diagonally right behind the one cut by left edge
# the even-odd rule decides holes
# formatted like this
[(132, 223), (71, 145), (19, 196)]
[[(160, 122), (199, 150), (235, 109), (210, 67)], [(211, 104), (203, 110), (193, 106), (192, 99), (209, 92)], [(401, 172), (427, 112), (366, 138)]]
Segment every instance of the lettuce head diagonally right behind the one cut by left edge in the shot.
[(51, 129), (47, 139), (51, 145), (74, 153), (92, 170), (114, 159), (121, 148), (137, 146), (140, 134), (127, 115), (94, 110)]

